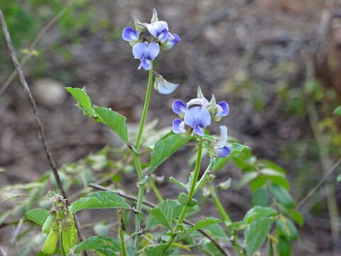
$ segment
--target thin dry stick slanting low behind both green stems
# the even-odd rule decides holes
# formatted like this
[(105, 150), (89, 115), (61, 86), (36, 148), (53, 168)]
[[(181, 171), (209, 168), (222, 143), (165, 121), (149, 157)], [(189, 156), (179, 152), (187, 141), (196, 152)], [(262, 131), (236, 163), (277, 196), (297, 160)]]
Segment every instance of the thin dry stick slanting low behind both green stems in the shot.
[[(100, 186), (100, 185), (97, 185), (97, 184), (94, 184), (94, 183), (90, 183), (88, 186), (90, 186), (91, 188), (95, 188), (97, 190), (100, 190), (100, 191), (112, 191), (114, 193), (116, 193), (117, 195), (123, 197), (123, 198), (126, 198), (130, 201), (134, 201), (136, 202), (137, 199), (136, 197), (134, 196), (129, 196), (127, 195), (126, 193), (122, 193), (120, 191), (117, 191), (117, 190), (113, 190), (113, 189), (110, 189), (110, 188), (106, 188), (104, 186)], [(145, 205), (145, 206), (149, 206), (151, 208), (155, 208), (156, 205), (151, 203), (151, 202), (148, 202), (148, 201), (142, 201), (142, 203)], [(185, 224), (187, 225), (190, 225), (191, 227), (194, 226), (194, 223), (191, 223), (190, 221), (188, 220), (184, 220), (183, 221)], [(220, 250), (220, 252), (222, 252), (222, 254), (224, 256), (229, 256), (229, 254), (220, 246), (220, 244), (215, 240), (215, 238), (212, 238), (205, 230), (202, 230), (202, 229), (199, 229), (198, 230), (202, 235), (204, 235), (206, 238), (208, 238), (215, 246), (217, 246), (217, 248)]]

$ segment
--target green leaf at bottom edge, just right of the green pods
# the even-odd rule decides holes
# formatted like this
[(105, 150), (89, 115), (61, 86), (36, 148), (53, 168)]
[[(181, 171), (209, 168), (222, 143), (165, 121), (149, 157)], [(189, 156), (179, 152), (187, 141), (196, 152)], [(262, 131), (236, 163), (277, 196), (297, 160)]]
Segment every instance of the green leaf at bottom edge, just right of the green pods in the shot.
[(116, 252), (121, 252), (121, 244), (114, 238), (108, 238), (106, 235), (92, 236), (80, 242), (74, 247), (75, 252), (81, 250), (94, 250), (102, 255), (111, 256), (117, 255)]

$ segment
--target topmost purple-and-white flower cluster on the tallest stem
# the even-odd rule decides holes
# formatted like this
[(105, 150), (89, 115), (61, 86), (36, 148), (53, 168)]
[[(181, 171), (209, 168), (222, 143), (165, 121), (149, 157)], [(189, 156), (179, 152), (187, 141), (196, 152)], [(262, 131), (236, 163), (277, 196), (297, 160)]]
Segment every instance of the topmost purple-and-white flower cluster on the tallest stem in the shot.
[[(149, 41), (142, 35), (144, 31), (150, 33), (151, 38)], [(141, 61), (139, 69), (144, 68), (144, 70), (151, 69), (151, 61), (157, 57), (160, 48), (170, 50), (180, 41), (177, 34), (169, 32), (166, 21), (158, 21), (156, 9), (153, 9), (151, 23), (141, 23), (135, 18), (135, 29), (131, 27), (124, 28), (122, 38), (133, 47), (134, 57)]]

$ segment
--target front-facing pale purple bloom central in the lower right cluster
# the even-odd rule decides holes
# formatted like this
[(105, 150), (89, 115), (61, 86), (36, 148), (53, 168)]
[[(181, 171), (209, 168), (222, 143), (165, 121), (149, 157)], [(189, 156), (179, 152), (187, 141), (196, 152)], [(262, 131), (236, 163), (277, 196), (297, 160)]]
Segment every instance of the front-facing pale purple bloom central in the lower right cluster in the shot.
[(193, 128), (193, 134), (204, 135), (204, 128), (211, 124), (211, 115), (206, 107), (192, 107), (185, 112), (185, 124)]

